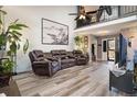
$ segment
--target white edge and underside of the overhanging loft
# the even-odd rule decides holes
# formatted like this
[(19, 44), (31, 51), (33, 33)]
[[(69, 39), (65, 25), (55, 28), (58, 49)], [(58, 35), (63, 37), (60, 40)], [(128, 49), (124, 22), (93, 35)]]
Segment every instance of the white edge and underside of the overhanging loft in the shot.
[(116, 22), (115, 21), (110, 21), (110, 22), (77, 29), (74, 31), (74, 33), (82, 35), (92, 34), (95, 36), (117, 34), (124, 29), (137, 26), (137, 16), (130, 19), (128, 18), (127, 20), (125, 19), (125, 21), (123, 19), (123, 20), (117, 20)]

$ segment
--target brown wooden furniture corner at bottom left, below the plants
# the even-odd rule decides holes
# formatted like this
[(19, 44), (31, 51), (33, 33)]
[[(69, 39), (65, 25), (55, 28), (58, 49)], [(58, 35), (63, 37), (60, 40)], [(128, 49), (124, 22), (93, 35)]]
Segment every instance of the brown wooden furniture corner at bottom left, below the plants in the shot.
[(0, 93), (4, 93), (7, 97), (20, 97), (20, 91), (17, 82), (11, 78), (9, 86), (0, 88)]

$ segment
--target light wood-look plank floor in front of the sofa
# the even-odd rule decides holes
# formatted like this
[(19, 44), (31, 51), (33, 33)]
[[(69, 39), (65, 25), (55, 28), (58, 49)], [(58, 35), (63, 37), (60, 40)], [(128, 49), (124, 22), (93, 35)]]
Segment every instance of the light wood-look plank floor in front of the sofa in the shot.
[(14, 76), (23, 97), (119, 97), (129, 95), (116, 89), (109, 91), (108, 63), (92, 63), (60, 70), (53, 77), (33, 72)]

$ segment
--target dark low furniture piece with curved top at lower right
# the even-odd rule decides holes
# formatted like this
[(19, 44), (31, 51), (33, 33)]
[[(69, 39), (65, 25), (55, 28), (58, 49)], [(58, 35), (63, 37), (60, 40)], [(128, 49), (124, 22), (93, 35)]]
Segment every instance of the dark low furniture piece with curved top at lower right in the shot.
[(126, 71), (125, 75), (119, 77), (109, 71), (109, 90), (112, 90), (112, 87), (126, 93), (135, 93), (134, 71)]

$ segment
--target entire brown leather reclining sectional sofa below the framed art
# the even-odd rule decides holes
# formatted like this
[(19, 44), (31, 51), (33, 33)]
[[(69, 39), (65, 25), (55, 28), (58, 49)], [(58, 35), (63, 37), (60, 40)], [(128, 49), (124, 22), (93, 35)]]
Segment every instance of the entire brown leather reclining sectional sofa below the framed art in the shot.
[(75, 65), (86, 65), (88, 56), (81, 50), (33, 50), (29, 53), (32, 70), (39, 76), (53, 76), (60, 69), (73, 67)]

